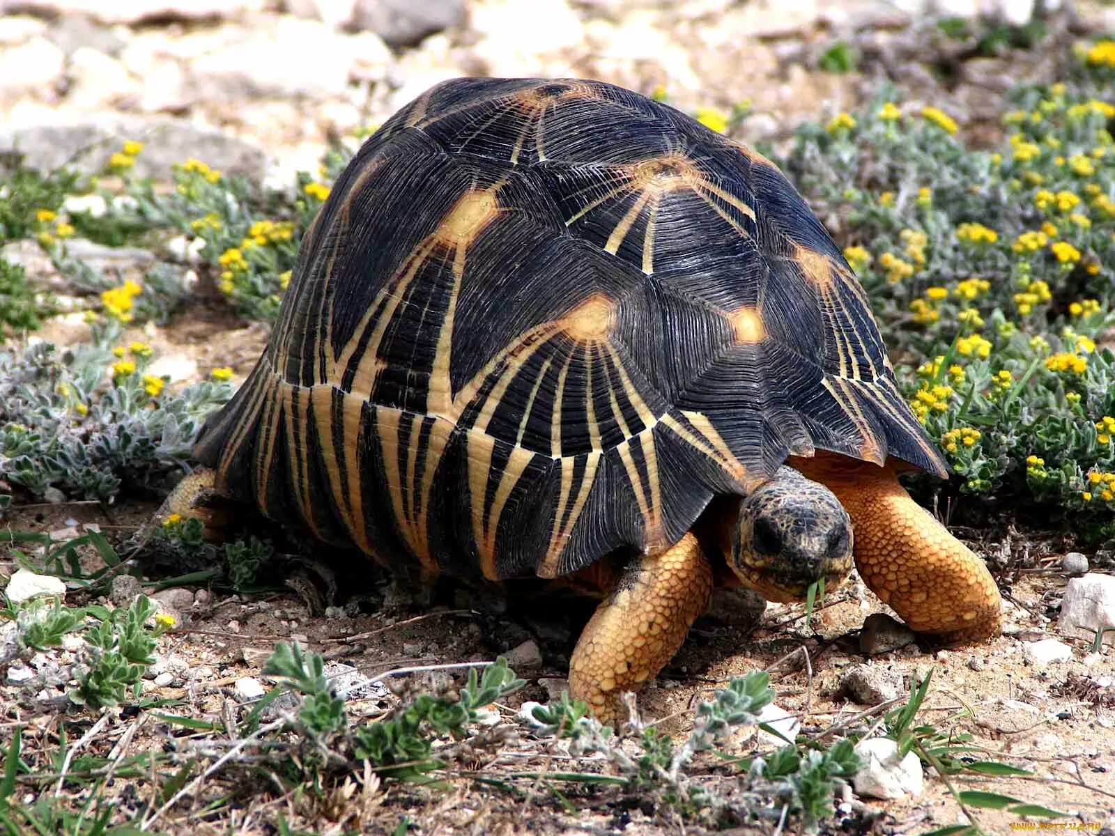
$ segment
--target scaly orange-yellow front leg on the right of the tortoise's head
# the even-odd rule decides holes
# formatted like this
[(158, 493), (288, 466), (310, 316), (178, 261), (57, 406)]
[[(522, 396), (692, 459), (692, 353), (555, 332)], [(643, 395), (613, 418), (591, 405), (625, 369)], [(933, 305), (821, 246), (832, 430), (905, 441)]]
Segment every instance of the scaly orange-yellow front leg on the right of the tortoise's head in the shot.
[(999, 633), (999, 587), (983, 561), (910, 498), (893, 469), (832, 454), (791, 464), (840, 498), (860, 575), (911, 630), (952, 643)]

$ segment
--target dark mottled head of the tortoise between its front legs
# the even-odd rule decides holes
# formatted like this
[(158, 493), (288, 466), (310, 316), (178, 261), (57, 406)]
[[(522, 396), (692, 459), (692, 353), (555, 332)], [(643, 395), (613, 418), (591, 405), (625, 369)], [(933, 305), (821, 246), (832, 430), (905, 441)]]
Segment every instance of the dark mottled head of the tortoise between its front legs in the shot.
[(784, 466), (740, 503), (728, 562), (767, 601), (802, 601), (852, 572), (852, 521), (832, 490)]

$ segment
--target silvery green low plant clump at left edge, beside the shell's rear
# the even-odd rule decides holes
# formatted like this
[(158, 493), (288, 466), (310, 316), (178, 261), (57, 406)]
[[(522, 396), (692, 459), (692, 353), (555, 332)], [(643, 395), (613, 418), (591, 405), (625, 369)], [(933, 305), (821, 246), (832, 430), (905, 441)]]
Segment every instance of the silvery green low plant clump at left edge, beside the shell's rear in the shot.
[(205, 417), (232, 387), (205, 381), (175, 391), (163, 381), (152, 395), (149, 353), (114, 373), (117, 337), (95, 329), (87, 344), (0, 352), (0, 480), (37, 497), (55, 487), (108, 500), (124, 485), (155, 485), (188, 458)]

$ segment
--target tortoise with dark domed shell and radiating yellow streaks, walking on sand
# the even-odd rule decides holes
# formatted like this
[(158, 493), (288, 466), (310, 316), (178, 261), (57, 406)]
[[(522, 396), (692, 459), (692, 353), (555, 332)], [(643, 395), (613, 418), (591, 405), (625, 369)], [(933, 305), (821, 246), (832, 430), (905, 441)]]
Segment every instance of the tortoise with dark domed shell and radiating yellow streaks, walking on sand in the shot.
[(799, 600), (854, 557), (914, 631), (999, 630), (982, 561), (899, 484), (947, 466), (823, 225), (755, 150), (600, 81), (396, 113), (195, 458), (166, 513), (215, 494), (424, 580), (594, 584), (570, 688), (602, 720), (715, 585)]

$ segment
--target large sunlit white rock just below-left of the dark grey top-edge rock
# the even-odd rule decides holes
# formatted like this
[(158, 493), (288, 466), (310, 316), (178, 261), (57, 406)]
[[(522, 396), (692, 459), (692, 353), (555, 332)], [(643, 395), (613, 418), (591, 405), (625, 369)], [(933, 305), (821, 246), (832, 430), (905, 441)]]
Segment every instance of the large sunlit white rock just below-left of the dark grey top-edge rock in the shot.
[[(254, 97), (339, 97), (356, 60), (352, 41), (317, 20), (280, 18), (190, 67), (194, 86), (211, 101)], [(298, 60), (291, 60), (291, 56)]]

